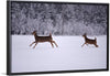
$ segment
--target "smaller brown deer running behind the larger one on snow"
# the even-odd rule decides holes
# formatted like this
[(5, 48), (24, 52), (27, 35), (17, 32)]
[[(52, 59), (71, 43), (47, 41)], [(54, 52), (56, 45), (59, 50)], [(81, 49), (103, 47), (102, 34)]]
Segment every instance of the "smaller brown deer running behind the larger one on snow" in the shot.
[(85, 44), (94, 44), (96, 47), (98, 47), (97, 45), (97, 39), (95, 37), (95, 40), (91, 40), (91, 39), (88, 39), (87, 37), (87, 34), (85, 33), (84, 35), (84, 39), (85, 39), (85, 43), (81, 45), (81, 47), (85, 45)]

